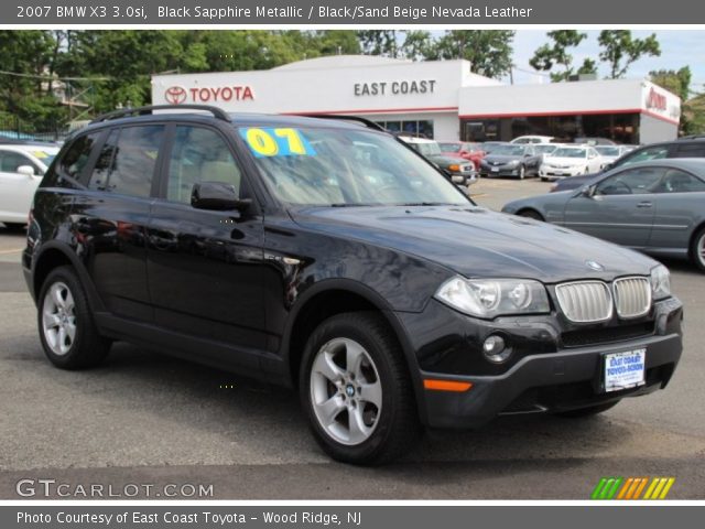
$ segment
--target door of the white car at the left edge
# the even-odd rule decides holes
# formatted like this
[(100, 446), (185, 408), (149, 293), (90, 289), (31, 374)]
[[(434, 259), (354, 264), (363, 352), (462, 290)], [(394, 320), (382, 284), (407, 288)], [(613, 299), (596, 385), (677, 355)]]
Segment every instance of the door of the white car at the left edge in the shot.
[[(34, 175), (20, 174), (18, 169), (30, 166)], [(28, 155), (9, 149), (0, 149), (0, 219), (25, 223), (43, 171)]]

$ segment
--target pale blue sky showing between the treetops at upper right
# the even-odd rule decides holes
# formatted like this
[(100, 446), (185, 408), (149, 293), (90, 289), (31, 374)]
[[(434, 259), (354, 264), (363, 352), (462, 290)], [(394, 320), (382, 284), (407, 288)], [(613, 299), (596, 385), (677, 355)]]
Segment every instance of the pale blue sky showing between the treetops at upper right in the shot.
[[(583, 63), (585, 57), (598, 60), (599, 55), (599, 45), (597, 43), (599, 30), (584, 30), (583, 32), (587, 33), (587, 39), (571, 51), (573, 64), (577, 66)], [(661, 45), (661, 56), (643, 57), (632, 63), (627, 72), (627, 77), (643, 78), (654, 69), (679, 69), (683, 66), (690, 66), (693, 73), (691, 90), (705, 91), (705, 30), (632, 30), (632, 36), (639, 39), (649, 36), (651, 33), (657, 34)], [(529, 60), (539, 46), (547, 42), (546, 31), (517, 30), (513, 43), (513, 62), (517, 66), (517, 69), (514, 69), (516, 84), (550, 82), (547, 74), (544, 72), (529, 73), (533, 72), (533, 68), (529, 65)], [(600, 78), (607, 75), (605, 65), (599, 66), (598, 75)], [(509, 82), (509, 78), (503, 80)]]

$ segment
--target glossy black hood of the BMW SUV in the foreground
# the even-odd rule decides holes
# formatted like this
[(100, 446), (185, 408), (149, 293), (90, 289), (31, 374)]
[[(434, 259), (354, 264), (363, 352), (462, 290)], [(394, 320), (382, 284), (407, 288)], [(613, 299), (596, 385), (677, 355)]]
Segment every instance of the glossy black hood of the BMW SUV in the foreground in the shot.
[[(434, 261), (465, 277), (543, 282), (648, 274), (650, 258), (547, 223), (474, 206), (310, 207), (293, 210), (308, 229)], [(590, 269), (596, 261), (604, 270)]]

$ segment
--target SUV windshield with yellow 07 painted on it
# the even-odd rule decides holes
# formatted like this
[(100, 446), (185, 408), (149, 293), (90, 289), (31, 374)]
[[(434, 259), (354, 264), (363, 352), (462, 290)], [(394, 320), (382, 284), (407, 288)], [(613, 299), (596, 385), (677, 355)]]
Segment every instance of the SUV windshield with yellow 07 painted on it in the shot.
[[(296, 205), (467, 205), (438, 171), (394, 138), (366, 129), (240, 128), (267, 185)], [(437, 148), (437, 143), (430, 144)]]

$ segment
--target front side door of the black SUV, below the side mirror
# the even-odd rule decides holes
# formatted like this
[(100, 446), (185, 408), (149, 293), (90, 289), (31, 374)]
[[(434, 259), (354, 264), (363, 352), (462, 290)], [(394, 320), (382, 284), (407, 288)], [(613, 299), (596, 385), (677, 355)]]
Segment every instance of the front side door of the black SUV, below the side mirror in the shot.
[[(148, 276), (158, 325), (242, 349), (264, 348), (263, 218), (247, 212), (191, 205), (199, 182), (232, 185), (249, 197), (232, 145), (215, 128), (174, 123), (149, 226)], [(216, 348), (217, 349), (217, 348)], [(221, 354), (214, 349), (204, 355)]]

